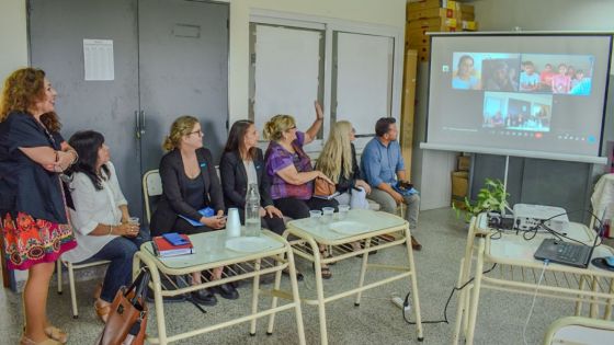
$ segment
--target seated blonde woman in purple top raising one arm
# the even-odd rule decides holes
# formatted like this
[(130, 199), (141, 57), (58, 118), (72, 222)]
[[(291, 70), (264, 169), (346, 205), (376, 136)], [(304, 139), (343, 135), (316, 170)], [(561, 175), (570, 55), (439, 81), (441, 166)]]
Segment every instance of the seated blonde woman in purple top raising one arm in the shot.
[[(322, 108), (318, 102), (315, 105), (316, 120), (305, 133), (296, 129), (291, 115), (275, 115), (264, 125), (264, 138), (271, 140), (264, 156), (271, 177), (271, 198), (276, 208), (294, 219), (308, 218), (311, 209), (339, 205), (334, 199), (312, 197), (314, 180), (320, 177), (332, 183), (321, 171), (311, 168), (311, 160), (303, 150), (322, 126)], [(328, 267), (322, 266), (322, 278), (330, 277)]]

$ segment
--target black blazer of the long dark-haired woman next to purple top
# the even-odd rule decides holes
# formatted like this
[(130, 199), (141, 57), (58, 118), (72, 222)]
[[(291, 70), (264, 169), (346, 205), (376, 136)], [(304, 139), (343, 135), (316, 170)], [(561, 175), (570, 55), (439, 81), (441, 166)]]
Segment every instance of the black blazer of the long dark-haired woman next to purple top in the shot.
[[(257, 148), (253, 165), (258, 176), (260, 205), (262, 207), (273, 205), (271, 199), (271, 181), (269, 174), (264, 171), (264, 158), (261, 149)], [(248, 193), (248, 173), (239, 152), (224, 152), (219, 161), (219, 175), (221, 177), (226, 207), (245, 208), (246, 194)]]

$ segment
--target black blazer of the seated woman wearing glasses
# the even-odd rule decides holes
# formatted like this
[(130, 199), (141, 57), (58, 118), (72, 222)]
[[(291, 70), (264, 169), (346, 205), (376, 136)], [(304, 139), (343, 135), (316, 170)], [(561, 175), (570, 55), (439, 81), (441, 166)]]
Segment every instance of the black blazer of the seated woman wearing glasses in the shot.
[[(205, 183), (205, 205), (218, 210), (224, 210), (224, 198), (221, 186), (215, 171), (215, 164), (211, 151), (201, 148), (196, 150), (196, 158), (201, 165), (201, 176)], [(201, 219), (202, 215), (185, 203), (187, 176), (183, 171), (183, 160), (178, 149), (170, 151), (160, 161), (160, 177), (162, 180), (162, 197), (158, 207), (151, 216), (151, 232), (164, 233), (172, 230), (178, 215), (183, 215), (192, 219)]]

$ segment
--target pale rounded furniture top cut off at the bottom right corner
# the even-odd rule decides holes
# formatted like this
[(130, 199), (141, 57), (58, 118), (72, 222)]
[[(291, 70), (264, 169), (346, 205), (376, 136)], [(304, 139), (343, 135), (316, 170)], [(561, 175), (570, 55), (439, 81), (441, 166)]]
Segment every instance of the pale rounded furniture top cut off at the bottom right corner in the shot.
[(567, 317), (548, 326), (543, 344), (611, 345), (613, 340), (614, 321)]

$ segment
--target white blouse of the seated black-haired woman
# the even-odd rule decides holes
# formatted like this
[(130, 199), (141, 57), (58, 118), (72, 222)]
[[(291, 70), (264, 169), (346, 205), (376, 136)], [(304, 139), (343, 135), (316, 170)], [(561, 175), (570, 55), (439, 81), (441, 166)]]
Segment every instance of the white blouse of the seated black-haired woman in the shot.
[[(79, 263), (92, 257), (106, 243), (117, 235), (89, 235), (99, 223), (120, 225), (122, 210), (120, 205), (127, 205), (120, 187), (113, 163), (106, 163), (111, 176), (102, 180), (102, 189), (98, 191), (84, 173), (75, 173), (70, 184), (70, 195), (75, 210), (69, 208), (70, 221), (77, 239), (77, 248), (62, 254), (62, 258)], [(104, 174), (104, 172), (103, 172)]]

